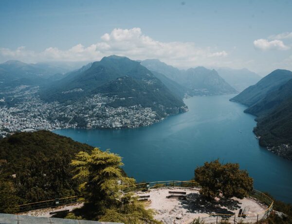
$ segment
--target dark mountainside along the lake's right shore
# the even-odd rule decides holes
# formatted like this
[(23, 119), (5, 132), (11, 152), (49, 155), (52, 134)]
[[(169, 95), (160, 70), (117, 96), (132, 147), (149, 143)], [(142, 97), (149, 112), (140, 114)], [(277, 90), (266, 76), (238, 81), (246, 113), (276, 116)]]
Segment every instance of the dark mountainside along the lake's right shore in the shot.
[(257, 116), (259, 144), (292, 160), (292, 72), (275, 70), (231, 101)]

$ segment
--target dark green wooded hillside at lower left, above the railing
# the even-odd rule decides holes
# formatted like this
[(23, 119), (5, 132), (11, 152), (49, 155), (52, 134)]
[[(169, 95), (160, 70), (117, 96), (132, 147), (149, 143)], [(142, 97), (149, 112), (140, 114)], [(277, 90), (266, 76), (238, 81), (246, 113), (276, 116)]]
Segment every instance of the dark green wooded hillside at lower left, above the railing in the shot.
[(78, 151), (91, 149), (50, 131), (16, 133), (0, 141), (0, 178), (13, 184), (20, 204), (73, 196), (78, 183), (70, 162)]

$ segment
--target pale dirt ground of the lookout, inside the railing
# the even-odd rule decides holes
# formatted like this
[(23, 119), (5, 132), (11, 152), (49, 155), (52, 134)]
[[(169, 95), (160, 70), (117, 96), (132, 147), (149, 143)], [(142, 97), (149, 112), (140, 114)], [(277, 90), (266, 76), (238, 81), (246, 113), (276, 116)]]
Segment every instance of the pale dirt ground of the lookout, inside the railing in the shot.
[[(186, 198), (167, 198), (168, 191), (185, 191)], [(265, 210), (252, 198), (244, 199), (220, 199), (217, 202), (209, 203), (201, 198), (199, 189), (165, 187), (151, 189), (148, 192), (136, 192), (139, 196), (150, 195), (146, 203), (147, 208), (153, 208), (157, 211), (155, 219), (165, 224), (187, 224), (194, 218), (209, 217), (210, 214), (238, 214), (239, 209), (249, 209), (248, 216)], [(233, 216), (234, 217), (234, 216)]]

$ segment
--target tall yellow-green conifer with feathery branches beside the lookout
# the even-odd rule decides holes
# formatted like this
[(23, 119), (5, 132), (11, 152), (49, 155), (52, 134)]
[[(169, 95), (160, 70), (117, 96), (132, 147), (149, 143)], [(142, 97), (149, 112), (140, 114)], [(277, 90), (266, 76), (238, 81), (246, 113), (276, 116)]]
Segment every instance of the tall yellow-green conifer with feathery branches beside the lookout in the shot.
[(74, 210), (76, 217), (125, 224), (156, 223), (152, 210), (146, 210), (133, 194), (123, 193), (135, 180), (124, 175), (120, 156), (95, 148), (91, 154), (79, 152), (71, 165), (73, 179), (79, 181), (85, 199), (83, 208)]

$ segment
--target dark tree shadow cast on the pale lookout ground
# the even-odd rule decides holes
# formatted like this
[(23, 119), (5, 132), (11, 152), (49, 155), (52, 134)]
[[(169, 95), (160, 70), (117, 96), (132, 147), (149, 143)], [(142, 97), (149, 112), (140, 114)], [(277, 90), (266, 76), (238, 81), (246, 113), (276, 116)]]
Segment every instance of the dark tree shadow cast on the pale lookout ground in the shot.
[(237, 210), (240, 208), (241, 203), (233, 200), (221, 198), (218, 202), (208, 202), (199, 193), (190, 193), (186, 199), (180, 200), (183, 208), (192, 213), (217, 213), (234, 215), (235, 213), (230, 210)]

